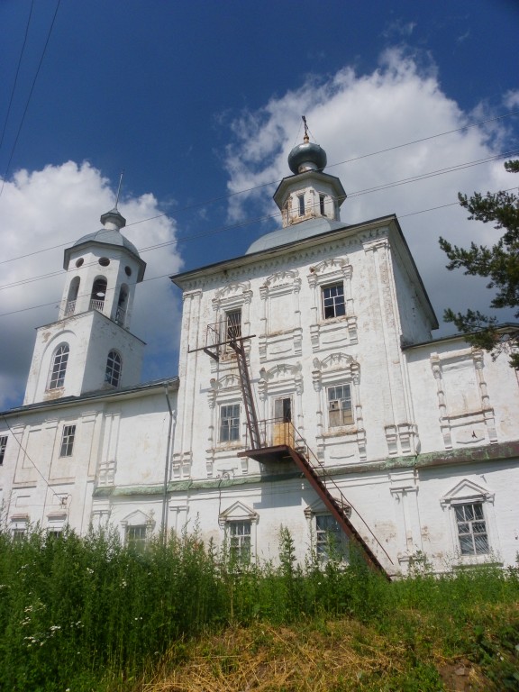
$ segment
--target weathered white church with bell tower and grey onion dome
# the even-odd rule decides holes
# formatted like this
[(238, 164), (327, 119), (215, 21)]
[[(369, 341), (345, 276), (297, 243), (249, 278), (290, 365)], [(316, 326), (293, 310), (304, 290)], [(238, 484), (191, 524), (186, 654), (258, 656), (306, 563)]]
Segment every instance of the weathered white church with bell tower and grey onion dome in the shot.
[[(145, 262), (117, 208), (64, 253), (23, 405), (0, 414), (4, 529), (110, 525), (141, 549), (197, 531), (238, 560), (354, 543), (388, 578), (516, 563), (519, 382), (438, 322), (395, 215), (341, 221), (346, 193), (304, 141), (282, 225), (242, 257), (171, 277), (178, 374), (141, 383)], [(171, 329), (176, 326), (172, 323)]]

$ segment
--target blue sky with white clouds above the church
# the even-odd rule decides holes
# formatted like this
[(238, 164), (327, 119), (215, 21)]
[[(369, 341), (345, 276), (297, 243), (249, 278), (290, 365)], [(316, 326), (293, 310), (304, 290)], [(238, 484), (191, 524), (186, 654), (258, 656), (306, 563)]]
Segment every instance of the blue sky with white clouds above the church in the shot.
[(0, 405), (20, 403), (33, 328), (56, 317), (63, 247), (97, 230), (122, 169), (125, 234), (150, 279), (132, 324), (149, 343), (143, 378), (176, 374), (181, 305), (166, 277), (277, 227), (271, 195), (302, 114), (349, 194), (342, 219), (396, 213), (439, 318), (486, 308), (437, 240), (493, 241), (457, 192), (517, 185), (499, 155), (519, 150), (519, 4), (388, 5), (3, 0)]

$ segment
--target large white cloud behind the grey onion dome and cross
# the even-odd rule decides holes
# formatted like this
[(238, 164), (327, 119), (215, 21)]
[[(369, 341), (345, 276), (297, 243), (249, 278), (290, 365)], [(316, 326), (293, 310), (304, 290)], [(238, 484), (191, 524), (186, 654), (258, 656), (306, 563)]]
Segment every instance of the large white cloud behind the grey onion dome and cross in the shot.
[[(507, 98), (513, 105), (514, 95)], [(510, 126), (506, 120), (468, 128), (475, 119), (494, 114), (484, 105), (475, 113), (464, 113), (442, 92), (433, 64), (419, 64), (400, 50), (389, 50), (371, 74), (358, 75), (346, 67), (327, 80), (312, 77), (302, 87), (271, 99), (259, 111), (241, 114), (234, 123), (236, 140), (227, 152), (231, 192), (290, 175), (287, 154), (296, 140), (301, 141), (301, 114), (306, 116), (314, 141), (327, 152), (327, 172), (341, 178), (349, 194), (341, 207), (342, 220), (359, 223), (397, 214), (440, 322), (447, 306), (492, 312), (487, 309), (490, 296), (485, 280), (447, 271), (438, 238), (442, 235), (461, 246), (472, 240), (492, 244), (499, 232), (491, 224), (468, 221), (468, 214), (457, 204), (414, 213), (457, 203), (458, 191), (470, 195), (475, 190), (496, 191), (516, 184), (505, 172), (502, 160), (470, 165), (505, 150)], [(442, 132), (451, 133), (419, 141)], [(417, 143), (391, 149), (412, 141)], [(460, 164), (467, 167), (363, 193)], [(230, 218), (238, 221), (250, 216), (252, 205), (261, 206), (254, 214), (277, 212), (271, 194), (272, 187), (259, 187), (232, 197)], [(502, 314), (500, 319), (511, 320), (512, 314)], [(453, 331), (446, 325), (439, 333)]]

